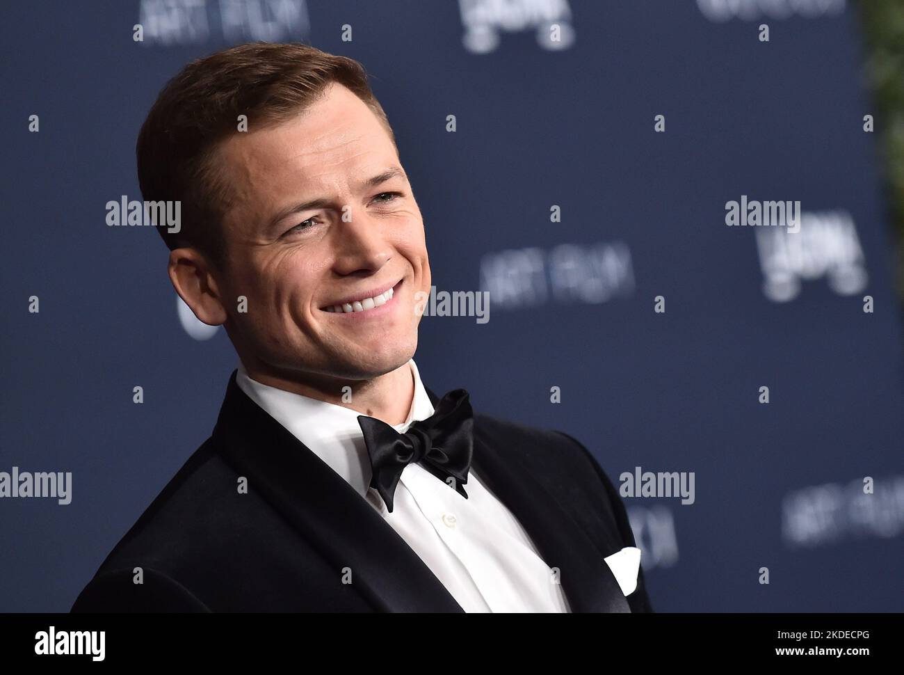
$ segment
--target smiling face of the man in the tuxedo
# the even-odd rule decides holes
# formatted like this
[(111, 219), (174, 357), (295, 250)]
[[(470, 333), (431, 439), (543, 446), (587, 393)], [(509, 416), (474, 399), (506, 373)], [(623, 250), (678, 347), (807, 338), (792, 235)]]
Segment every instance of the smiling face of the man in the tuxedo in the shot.
[[(334, 84), (290, 122), (255, 130), (250, 119), (220, 157), (234, 201), (217, 281), (245, 365), (287, 378), (370, 379), (413, 357), (415, 294), (430, 288), (424, 224), (371, 109)], [(349, 303), (372, 309), (345, 311), (347, 300), (378, 295)]]

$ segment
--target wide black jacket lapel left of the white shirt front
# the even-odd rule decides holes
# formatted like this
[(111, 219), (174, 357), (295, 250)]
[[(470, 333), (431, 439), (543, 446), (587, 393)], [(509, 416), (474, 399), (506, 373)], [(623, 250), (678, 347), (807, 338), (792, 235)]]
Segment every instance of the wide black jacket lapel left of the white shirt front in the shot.
[(233, 372), (213, 439), (256, 491), (332, 561), (336, 584), (381, 612), (464, 612), (446, 587), (372, 506), (241, 391)]

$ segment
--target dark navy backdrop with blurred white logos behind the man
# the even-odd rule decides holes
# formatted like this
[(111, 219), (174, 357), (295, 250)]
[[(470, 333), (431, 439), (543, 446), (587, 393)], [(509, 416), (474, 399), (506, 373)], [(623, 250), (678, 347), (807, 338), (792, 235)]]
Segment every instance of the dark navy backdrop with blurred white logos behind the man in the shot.
[(5, 3), (0, 483), (57, 480), (0, 485), (0, 610), (68, 611), (212, 431), (237, 357), (108, 203), (141, 199), (165, 81), (255, 40), (363, 62), (424, 216), (425, 384), (586, 445), (655, 610), (904, 610), (901, 317), (856, 10)]

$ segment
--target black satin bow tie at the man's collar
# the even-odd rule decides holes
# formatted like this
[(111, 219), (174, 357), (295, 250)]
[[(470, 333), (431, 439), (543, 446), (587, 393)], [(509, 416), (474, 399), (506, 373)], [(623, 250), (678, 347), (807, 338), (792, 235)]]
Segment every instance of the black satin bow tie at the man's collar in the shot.
[(474, 453), (474, 419), (466, 390), (454, 389), (443, 396), (434, 414), (412, 423), (405, 433), (363, 414), (358, 415), (358, 423), (371, 457), (371, 487), (390, 513), (401, 472), (412, 461), (419, 461), (467, 499), (464, 484)]

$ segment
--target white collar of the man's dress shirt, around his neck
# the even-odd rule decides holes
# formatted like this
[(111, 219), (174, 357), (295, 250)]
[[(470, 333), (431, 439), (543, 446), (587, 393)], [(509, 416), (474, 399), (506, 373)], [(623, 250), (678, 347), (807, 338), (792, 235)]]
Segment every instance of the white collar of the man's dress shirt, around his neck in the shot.
[[(408, 363), (414, 378), (414, 397), (405, 422), (392, 425), (399, 433), (408, 431), (412, 423), (426, 420), (434, 413), (427, 390), (420, 381), (417, 364), (413, 358)], [(342, 476), (362, 497), (366, 496), (372, 471), (358, 424), (361, 413), (344, 405), (262, 385), (250, 378), (241, 362), (238, 370), (236, 383), (252, 401)]]

